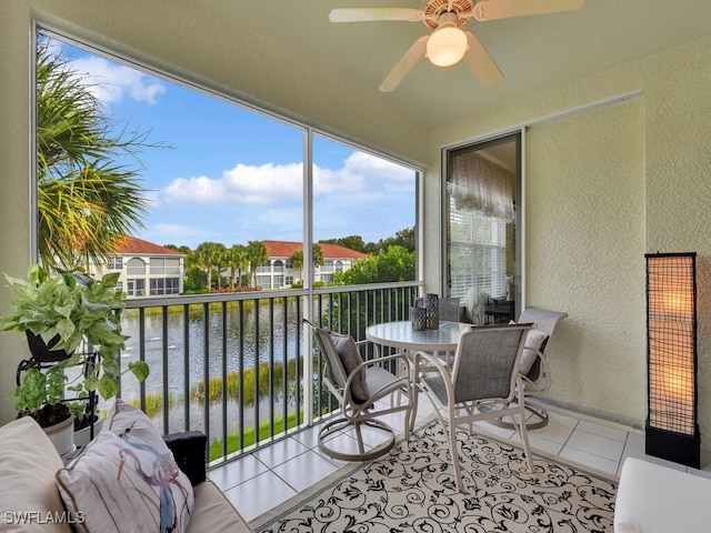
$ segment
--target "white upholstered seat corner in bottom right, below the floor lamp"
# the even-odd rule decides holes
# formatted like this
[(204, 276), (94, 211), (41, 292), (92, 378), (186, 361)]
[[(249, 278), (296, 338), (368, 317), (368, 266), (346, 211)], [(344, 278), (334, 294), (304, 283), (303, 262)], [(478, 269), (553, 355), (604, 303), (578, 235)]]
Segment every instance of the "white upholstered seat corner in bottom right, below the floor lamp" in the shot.
[(620, 473), (614, 533), (711, 532), (711, 479), (628, 457)]

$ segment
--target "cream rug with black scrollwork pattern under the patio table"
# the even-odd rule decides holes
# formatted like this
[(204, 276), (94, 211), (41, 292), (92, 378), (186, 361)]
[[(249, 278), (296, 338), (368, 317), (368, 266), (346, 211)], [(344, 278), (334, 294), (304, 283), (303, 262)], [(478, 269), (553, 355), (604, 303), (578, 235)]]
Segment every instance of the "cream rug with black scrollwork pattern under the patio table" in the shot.
[(458, 430), (464, 491), (434, 421), (390, 454), (354, 463), (253, 520), (258, 533), (612, 532), (617, 480)]

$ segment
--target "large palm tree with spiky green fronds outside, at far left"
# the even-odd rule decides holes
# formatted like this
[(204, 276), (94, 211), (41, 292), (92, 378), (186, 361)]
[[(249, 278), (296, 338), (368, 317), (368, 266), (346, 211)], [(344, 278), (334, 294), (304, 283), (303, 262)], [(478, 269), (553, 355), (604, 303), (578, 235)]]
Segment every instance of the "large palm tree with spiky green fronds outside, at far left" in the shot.
[[(90, 88), (49, 39), (39, 43), (38, 251), (48, 268), (104, 262), (119, 239), (142, 228), (147, 212), (138, 155), (160, 144), (118, 128)], [(127, 157), (137, 165), (117, 163)]]

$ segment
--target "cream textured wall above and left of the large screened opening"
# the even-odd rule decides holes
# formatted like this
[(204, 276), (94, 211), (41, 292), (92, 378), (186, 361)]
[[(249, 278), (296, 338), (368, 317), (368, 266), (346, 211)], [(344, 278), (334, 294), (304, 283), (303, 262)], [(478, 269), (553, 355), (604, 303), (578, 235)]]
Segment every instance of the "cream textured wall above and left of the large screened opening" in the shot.
[[(381, 102), (318, 72), (288, 50), (194, 0), (0, 1), (0, 272), (30, 261), (30, 68), (33, 20), (224, 94), (264, 104), (309, 125), (420, 163), (429, 132)], [(0, 286), (4, 285), (0, 281)], [(10, 293), (0, 290), (0, 313)], [(14, 416), (7, 392), (27, 356), (17, 333), (0, 332), (0, 424)]]

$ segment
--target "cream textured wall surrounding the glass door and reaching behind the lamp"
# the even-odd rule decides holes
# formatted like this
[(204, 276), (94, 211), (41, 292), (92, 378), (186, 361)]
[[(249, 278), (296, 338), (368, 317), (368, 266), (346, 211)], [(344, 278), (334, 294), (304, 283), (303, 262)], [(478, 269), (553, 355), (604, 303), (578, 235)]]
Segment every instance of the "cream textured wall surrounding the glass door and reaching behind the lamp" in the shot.
[[(554, 400), (642, 421), (645, 252), (695, 251), (699, 420), (711, 434), (711, 39), (437, 129), (442, 147), (642, 91), (625, 103), (531, 128), (527, 135), (527, 303), (570, 313), (551, 360)], [(543, 185), (539, 189), (537, 185)], [(543, 191), (543, 188), (548, 188)], [(438, 169), (425, 209), (440, 205)], [(429, 243), (440, 225), (428, 220)], [(618, 233), (619, 229), (619, 233)], [(438, 282), (430, 261), (427, 283)], [(702, 447), (711, 440), (702, 436)]]

